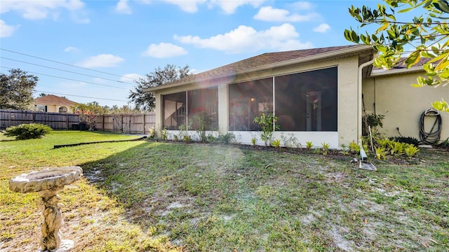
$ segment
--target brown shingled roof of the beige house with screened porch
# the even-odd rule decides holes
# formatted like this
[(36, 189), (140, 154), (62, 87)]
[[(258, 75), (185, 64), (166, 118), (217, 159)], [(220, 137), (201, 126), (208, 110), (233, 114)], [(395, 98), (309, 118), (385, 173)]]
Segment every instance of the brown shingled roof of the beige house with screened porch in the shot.
[[(267, 52), (262, 55), (243, 59), (239, 62), (220, 66), (215, 69), (204, 71), (193, 75), (186, 76), (180, 80), (171, 83), (152, 87), (146, 91), (161, 90), (168, 87), (185, 85), (194, 81), (210, 80), (214, 78), (224, 78), (227, 76), (235, 76), (239, 73), (247, 73), (252, 71), (262, 71), (279, 66), (287, 66), (289, 64), (298, 64), (302, 62), (311, 62), (319, 59), (330, 59), (342, 55), (351, 55), (364, 50), (373, 50), (370, 45), (342, 45), (327, 48), (312, 48), (305, 50), (291, 50), (286, 52)], [(369, 59), (368, 59), (369, 60)]]

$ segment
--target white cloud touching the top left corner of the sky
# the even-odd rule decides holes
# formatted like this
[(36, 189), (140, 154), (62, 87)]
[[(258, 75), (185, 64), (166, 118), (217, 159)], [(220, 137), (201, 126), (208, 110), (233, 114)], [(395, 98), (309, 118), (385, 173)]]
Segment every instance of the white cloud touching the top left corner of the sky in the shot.
[[(53, 0), (53, 1), (0, 1), (0, 13), (16, 11), (22, 18), (28, 20), (40, 20), (48, 18), (58, 18), (60, 10), (66, 9), (74, 13), (82, 10), (85, 3), (80, 0)], [(86, 19), (84, 19), (86, 21)]]

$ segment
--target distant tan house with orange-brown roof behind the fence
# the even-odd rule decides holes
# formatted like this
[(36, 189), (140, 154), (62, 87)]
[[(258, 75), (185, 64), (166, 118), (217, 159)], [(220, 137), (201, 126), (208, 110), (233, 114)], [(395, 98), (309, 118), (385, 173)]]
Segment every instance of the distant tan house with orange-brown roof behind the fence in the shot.
[(64, 97), (48, 94), (34, 99), (34, 106), (38, 111), (53, 113), (74, 113), (76, 102)]

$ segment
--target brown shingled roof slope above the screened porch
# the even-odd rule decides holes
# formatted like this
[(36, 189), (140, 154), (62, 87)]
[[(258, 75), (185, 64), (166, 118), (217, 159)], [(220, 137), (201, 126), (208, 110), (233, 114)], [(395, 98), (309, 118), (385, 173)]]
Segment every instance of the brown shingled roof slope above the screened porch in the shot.
[(166, 87), (183, 85), (186, 83), (192, 83), (195, 80), (205, 80), (210, 78), (217, 78), (220, 76), (227, 76), (235, 73), (241, 73), (246, 71), (256, 71), (257, 69), (261, 69), (264, 66), (272, 66), (273, 64), (281, 64), (298, 59), (307, 59), (310, 57), (314, 57), (316, 55), (328, 55), (330, 52), (337, 52), (339, 50), (342, 51), (342, 54), (348, 53), (347, 50), (369, 50), (370, 46), (367, 45), (342, 45), (342, 46), (333, 46), (327, 48), (312, 48), (305, 50), (290, 50), (285, 52), (267, 52), (262, 55), (257, 55), (255, 57), (250, 57), (248, 59), (243, 59), (239, 62), (234, 62), (231, 64), (227, 64), (225, 66), (220, 66), (215, 69), (211, 69), (208, 71), (203, 71), (201, 73), (192, 74), (186, 76), (185, 78), (181, 78), (180, 80), (175, 80), (171, 83), (167, 83), (164, 85), (160, 85), (158, 87), (149, 88), (151, 90), (159, 90)]

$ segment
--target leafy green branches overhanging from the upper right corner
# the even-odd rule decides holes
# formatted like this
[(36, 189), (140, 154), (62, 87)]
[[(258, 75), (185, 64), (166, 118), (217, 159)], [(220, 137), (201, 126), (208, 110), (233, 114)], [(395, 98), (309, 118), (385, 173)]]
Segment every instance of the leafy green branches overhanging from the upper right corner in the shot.
[[(344, 30), (344, 37), (351, 42), (373, 45), (379, 52), (374, 66), (391, 69), (401, 60), (407, 68), (418, 64), (422, 58), (429, 58), (422, 66), (427, 78), (417, 78), (413, 87), (445, 86), (449, 83), (449, 3), (445, 0), (384, 0), (387, 6), (349, 8), (349, 14), (360, 27), (375, 24), (373, 33), (357, 33), (352, 28)], [(424, 15), (415, 16), (404, 22), (398, 18), (413, 10), (424, 10)], [(401, 15), (402, 14), (402, 15)], [(409, 48), (412, 48), (409, 50)], [(405, 58), (405, 59), (404, 59)], [(448, 88), (448, 87), (446, 87)], [(445, 94), (448, 94), (446, 92)], [(435, 109), (449, 112), (444, 99), (432, 104)]]

